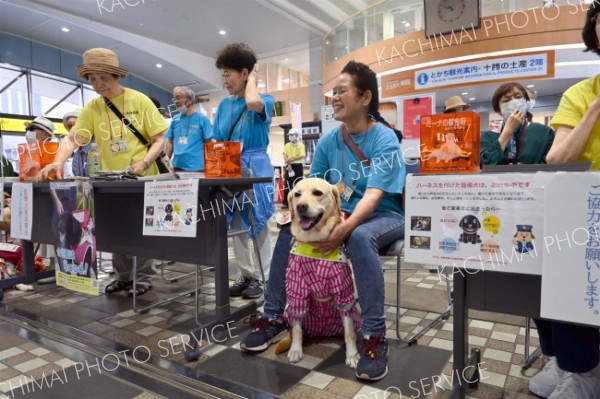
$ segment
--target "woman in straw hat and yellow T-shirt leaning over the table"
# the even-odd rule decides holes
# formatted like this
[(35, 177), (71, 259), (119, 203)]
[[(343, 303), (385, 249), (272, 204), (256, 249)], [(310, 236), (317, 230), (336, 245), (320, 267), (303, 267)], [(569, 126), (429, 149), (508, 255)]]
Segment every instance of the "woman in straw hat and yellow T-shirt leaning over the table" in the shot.
[[(146, 95), (119, 84), (119, 79), (127, 76), (128, 72), (119, 66), (117, 54), (105, 48), (87, 50), (83, 53), (83, 65), (77, 68), (77, 72), (90, 82), (100, 97), (81, 110), (77, 123), (61, 143), (54, 163), (43, 168), (38, 178), (46, 179), (52, 172), (61, 178), (63, 165), (75, 148), (86, 145), (92, 138), (98, 145), (104, 170), (129, 169), (140, 175), (158, 174), (154, 161), (164, 147), (164, 133), (168, 126)], [(115, 114), (108, 100), (151, 143), (149, 148)], [(119, 279), (106, 287), (107, 293), (123, 290), (132, 281), (130, 258), (115, 254), (113, 266), (119, 273)], [(138, 284), (137, 293), (142, 294), (149, 288), (148, 283)], [(130, 291), (130, 294), (133, 292)]]

